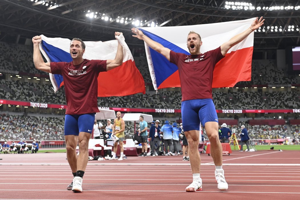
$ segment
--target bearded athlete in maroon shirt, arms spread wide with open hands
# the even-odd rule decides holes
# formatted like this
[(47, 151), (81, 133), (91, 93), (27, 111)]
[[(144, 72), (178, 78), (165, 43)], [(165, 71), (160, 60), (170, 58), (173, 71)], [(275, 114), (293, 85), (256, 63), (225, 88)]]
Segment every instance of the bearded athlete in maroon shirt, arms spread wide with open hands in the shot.
[(215, 164), (215, 178), (219, 190), (227, 190), (224, 170), (222, 169), (222, 146), (218, 134), (218, 117), (212, 100), (212, 78), (214, 66), (221, 60), (227, 51), (234, 45), (244, 40), (252, 31), (258, 29), (264, 23), (262, 17), (252, 22), (244, 32), (232, 37), (228, 42), (217, 49), (200, 52), (202, 46), (201, 37), (194, 31), (187, 36), (187, 48), (190, 55), (176, 53), (161, 44), (151, 40), (137, 28), (131, 31), (140, 40), (155, 51), (161, 53), (171, 63), (178, 66), (181, 91), (182, 91), (182, 125), (184, 135), (187, 137), (189, 146), (190, 165), (193, 173), (193, 182), (186, 187), (185, 191), (195, 192), (202, 190), (202, 179), (200, 178), (200, 155), (199, 124), (203, 125), (211, 145), (211, 157)]

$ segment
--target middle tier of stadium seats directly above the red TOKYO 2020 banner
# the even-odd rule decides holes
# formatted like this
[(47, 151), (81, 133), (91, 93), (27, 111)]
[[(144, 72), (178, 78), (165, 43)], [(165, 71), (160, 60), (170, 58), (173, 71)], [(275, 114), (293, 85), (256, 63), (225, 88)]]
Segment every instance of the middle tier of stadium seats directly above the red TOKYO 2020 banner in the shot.
[[(296, 88), (291, 91), (240, 92), (223, 89), (224, 92), (213, 91), (216, 109), (293, 109), (300, 107), (299, 93)], [(22, 80), (0, 80), (0, 99), (66, 104), (64, 87), (56, 93), (52, 85), (24, 82)], [(99, 97), (101, 107), (164, 107), (181, 108), (181, 92), (158, 90), (158, 93), (147, 92), (123, 97)]]

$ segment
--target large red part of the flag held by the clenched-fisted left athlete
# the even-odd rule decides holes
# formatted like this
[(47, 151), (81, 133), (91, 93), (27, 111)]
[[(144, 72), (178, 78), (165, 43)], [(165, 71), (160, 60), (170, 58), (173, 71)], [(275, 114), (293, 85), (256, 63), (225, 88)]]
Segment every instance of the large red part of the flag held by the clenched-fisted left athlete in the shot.
[(98, 76), (98, 96), (127, 96), (145, 94), (145, 81), (135, 62), (127, 60), (121, 66)]

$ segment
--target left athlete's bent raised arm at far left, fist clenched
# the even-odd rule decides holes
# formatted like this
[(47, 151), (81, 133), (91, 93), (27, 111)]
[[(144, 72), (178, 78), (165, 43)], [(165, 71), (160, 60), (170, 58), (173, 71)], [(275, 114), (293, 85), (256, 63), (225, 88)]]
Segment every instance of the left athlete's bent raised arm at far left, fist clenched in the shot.
[(39, 45), (42, 42), (41, 36), (35, 36), (32, 38), (33, 43), (33, 62), (35, 63), (35, 68), (42, 70), (44, 72), (51, 73), (50, 63), (45, 63)]

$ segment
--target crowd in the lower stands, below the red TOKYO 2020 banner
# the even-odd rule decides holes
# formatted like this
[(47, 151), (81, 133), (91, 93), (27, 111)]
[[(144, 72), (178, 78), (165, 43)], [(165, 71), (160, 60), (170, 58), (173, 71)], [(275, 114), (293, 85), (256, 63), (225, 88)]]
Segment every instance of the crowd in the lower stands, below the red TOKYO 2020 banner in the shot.
[[(98, 120), (106, 126), (106, 120)], [(161, 125), (164, 120), (161, 121)], [(229, 125), (228, 128), (235, 130), (238, 135), (241, 132), (240, 123)], [(131, 138), (134, 134), (134, 122), (125, 121), (125, 139)], [(136, 124), (136, 130), (138, 130)], [(150, 127), (150, 123), (148, 124)], [(300, 126), (291, 125), (294, 137), (300, 137)], [(246, 125), (251, 139), (280, 139), (289, 136), (285, 125)], [(203, 129), (203, 137), (208, 137)], [(64, 118), (63, 117), (44, 117), (44, 116), (23, 116), (0, 114), (0, 140), (64, 140)]]

